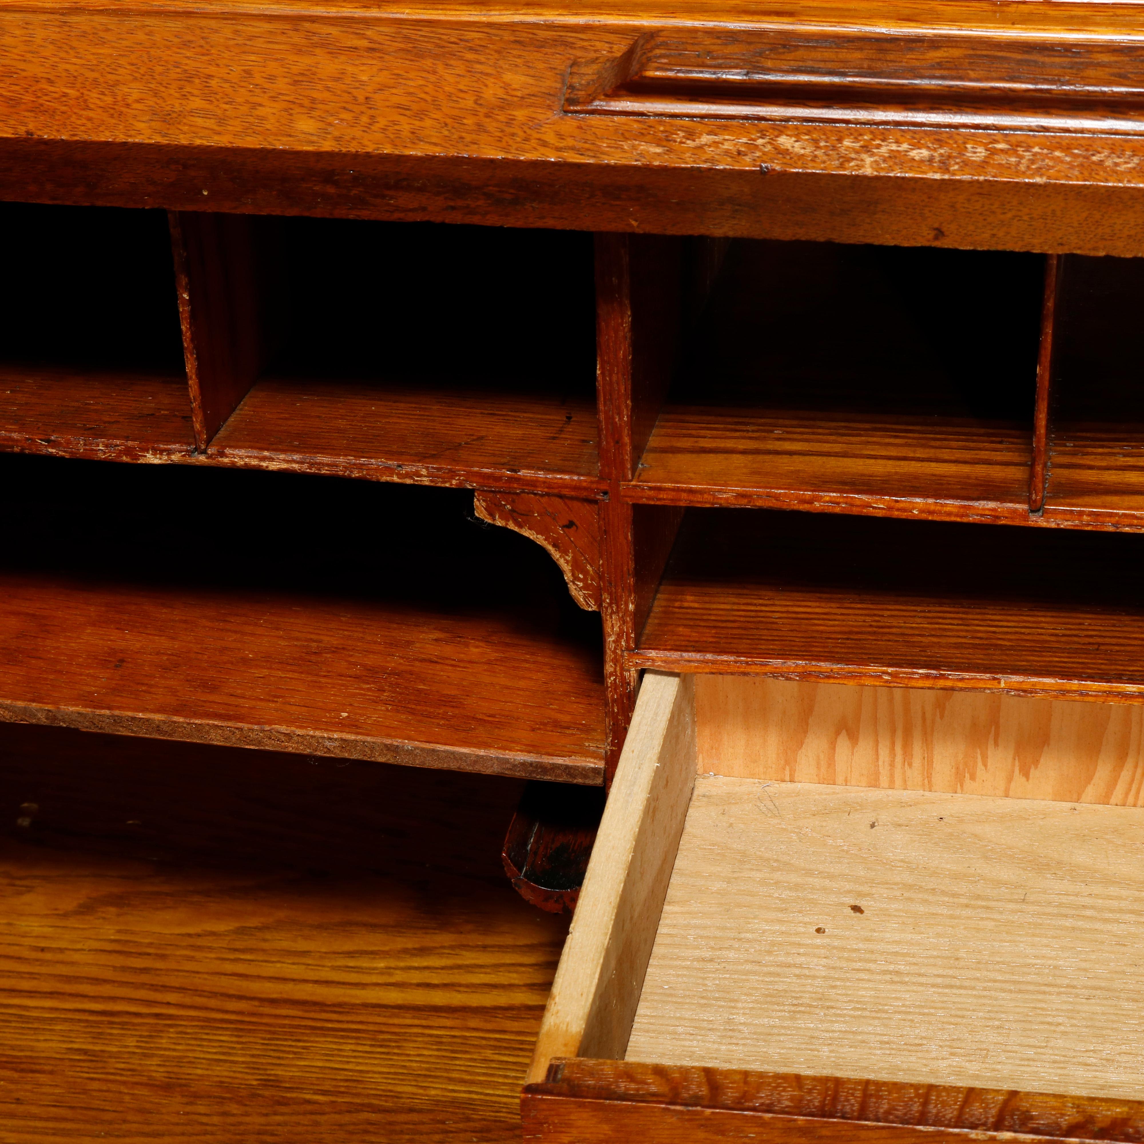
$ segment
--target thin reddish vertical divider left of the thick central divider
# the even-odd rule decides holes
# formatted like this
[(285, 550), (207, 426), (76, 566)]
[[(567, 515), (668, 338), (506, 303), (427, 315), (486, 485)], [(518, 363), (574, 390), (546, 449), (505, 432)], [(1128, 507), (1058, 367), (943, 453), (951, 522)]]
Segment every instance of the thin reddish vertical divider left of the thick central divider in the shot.
[(262, 367), (253, 235), (245, 215), (168, 217), (194, 446), (204, 452)]

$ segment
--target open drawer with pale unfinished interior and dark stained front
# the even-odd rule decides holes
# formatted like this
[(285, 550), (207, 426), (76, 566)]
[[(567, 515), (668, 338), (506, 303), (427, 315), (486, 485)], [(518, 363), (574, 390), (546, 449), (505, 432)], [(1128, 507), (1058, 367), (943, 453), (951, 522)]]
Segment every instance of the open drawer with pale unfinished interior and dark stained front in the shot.
[(649, 673), (524, 1138), (1144, 1139), (1142, 715)]

